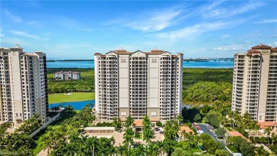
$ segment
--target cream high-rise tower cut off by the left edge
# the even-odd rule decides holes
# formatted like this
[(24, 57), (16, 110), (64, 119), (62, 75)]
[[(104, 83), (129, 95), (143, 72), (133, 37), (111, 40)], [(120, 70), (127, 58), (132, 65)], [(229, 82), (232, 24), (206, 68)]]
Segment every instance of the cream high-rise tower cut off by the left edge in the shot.
[(43, 123), (48, 113), (45, 53), (23, 48), (0, 48), (0, 122), (20, 126), (33, 114)]

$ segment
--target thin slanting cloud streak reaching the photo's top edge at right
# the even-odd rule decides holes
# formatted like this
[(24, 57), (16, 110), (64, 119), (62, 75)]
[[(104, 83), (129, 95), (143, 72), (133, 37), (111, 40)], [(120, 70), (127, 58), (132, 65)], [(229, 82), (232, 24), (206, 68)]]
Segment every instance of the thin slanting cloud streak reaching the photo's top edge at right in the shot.
[(264, 6), (264, 3), (261, 1), (249, 1), (248, 4), (245, 4), (244, 6), (235, 6), (234, 8), (219, 8), (211, 10), (210, 12), (207, 12), (206, 14), (202, 14), (203, 18), (227, 18), (231, 16), (236, 16), (239, 14), (244, 14), (248, 11), (254, 10), (256, 8), (259, 8), (261, 6)]

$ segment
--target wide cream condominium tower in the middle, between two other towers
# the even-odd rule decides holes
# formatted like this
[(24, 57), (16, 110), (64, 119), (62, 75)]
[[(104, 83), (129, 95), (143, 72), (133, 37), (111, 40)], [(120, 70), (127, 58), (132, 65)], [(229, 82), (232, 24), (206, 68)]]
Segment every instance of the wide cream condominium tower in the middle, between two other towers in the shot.
[(183, 54), (127, 52), (94, 54), (95, 110), (101, 122), (131, 115), (165, 122), (180, 114)]

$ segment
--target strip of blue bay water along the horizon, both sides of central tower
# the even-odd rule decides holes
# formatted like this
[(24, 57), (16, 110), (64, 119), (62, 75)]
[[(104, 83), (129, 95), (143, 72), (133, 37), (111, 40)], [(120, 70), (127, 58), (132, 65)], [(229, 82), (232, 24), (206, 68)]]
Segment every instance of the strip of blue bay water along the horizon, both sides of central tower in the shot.
[[(47, 68), (94, 68), (94, 61), (47, 62)], [(234, 61), (209, 60), (207, 62), (183, 61), (183, 68), (233, 68)]]

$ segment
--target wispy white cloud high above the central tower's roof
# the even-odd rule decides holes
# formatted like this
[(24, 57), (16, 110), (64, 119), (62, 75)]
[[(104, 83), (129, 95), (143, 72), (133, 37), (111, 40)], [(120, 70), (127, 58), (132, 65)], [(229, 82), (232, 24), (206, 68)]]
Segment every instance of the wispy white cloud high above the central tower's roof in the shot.
[[(158, 11), (148, 11), (132, 19), (116, 19), (106, 25), (121, 24), (126, 27), (134, 28), (143, 32), (161, 31), (168, 26), (172, 26), (181, 19), (186, 18), (184, 9), (181, 7), (170, 7)], [(180, 16), (182, 15), (182, 16)]]

